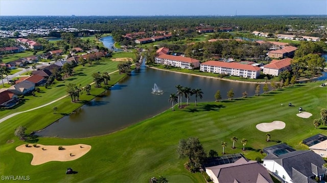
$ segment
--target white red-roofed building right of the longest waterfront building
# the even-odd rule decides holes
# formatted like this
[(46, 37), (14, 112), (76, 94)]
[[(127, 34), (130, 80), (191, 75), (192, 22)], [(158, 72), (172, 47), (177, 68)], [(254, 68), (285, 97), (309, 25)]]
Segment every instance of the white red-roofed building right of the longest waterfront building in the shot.
[(292, 58), (284, 58), (281, 60), (272, 60), (270, 64), (267, 64), (263, 66), (264, 74), (269, 74), (273, 76), (278, 76), (279, 73), (285, 71), (285, 70), (291, 70), (291, 62)]

